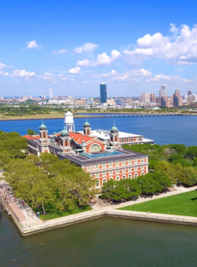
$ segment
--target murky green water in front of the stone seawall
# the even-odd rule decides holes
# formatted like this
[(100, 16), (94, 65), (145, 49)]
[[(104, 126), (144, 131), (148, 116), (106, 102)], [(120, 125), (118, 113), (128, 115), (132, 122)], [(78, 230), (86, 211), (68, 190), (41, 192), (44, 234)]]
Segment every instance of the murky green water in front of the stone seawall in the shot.
[(103, 218), (20, 237), (0, 222), (1, 267), (196, 267), (197, 228)]

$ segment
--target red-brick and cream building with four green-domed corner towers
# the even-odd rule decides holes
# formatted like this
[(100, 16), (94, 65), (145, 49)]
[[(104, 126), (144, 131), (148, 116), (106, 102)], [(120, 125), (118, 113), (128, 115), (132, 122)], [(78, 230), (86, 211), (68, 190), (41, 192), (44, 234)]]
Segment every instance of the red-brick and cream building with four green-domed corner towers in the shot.
[[(66, 116), (65, 122), (70, 121), (70, 117), (67, 119)], [(107, 135), (104, 132), (102, 134)], [(122, 132), (115, 125), (108, 131), (106, 138), (103, 135), (96, 136), (89, 122), (84, 123), (82, 132), (75, 132), (73, 128), (68, 131), (64, 126), (61, 132), (49, 135), (42, 122), (39, 135), (24, 137), (27, 138), (30, 154), (39, 156), (48, 152), (60, 159), (69, 159), (89, 172), (95, 179), (96, 188), (101, 188), (109, 179), (119, 181), (148, 173), (148, 155), (122, 148), (123, 143), (132, 143), (134, 140), (142, 143), (143, 136), (135, 135), (133, 141), (129, 136), (122, 138)]]

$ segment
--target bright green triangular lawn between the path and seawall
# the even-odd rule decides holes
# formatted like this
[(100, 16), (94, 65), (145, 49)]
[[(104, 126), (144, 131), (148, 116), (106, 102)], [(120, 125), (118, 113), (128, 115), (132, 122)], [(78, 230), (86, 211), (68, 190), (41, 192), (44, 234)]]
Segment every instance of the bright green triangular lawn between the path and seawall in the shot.
[(144, 203), (122, 207), (129, 211), (144, 211), (160, 214), (174, 214), (183, 216), (197, 216), (197, 191), (149, 200)]

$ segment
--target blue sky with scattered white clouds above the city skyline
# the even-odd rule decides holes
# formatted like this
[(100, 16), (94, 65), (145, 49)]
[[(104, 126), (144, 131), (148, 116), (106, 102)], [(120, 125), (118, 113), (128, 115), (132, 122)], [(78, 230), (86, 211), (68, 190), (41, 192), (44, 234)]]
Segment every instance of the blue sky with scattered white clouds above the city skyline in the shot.
[(197, 89), (197, 1), (0, 1), (0, 96)]

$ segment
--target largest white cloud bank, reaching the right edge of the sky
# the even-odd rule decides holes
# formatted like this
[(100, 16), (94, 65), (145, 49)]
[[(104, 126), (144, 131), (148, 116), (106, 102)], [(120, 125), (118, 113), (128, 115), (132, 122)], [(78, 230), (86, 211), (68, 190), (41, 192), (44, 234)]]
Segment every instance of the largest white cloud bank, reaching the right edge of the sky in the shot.
[(126, 63), (135, 65), (152, 58), (164, 59), (175, 65), (197, 63), (197, 25), (191, 29), (187, 25), (182, 25), (180, 29), (172, 23), (170, 26), (175, 39), (163, 37), (160, 32), (152, 36), (146, 34), (136, 41), (133, 50), (123, 52)]

